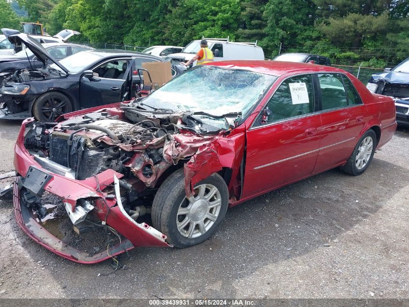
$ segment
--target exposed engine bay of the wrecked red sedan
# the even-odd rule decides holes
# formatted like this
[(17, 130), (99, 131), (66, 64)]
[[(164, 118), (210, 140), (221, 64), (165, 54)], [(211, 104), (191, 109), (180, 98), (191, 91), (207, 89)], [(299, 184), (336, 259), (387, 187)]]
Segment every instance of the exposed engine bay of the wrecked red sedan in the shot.
[[(150, 214), (165, 172), (184, 167), (199, 148), (228, 133), (201, 123), (190, 113), (147, 111), (137, 106), (134, 101), (60, 123), (31, 122), (26, 126), (26, 131), (30, 129), (24, 146), (44, 169), (66, 178), (94, 180), (108, 169), (123, 175), (119, 180), (121, 205), (136, 221)], [(98, 189), (115, 194), (113, 185)], [(74, 225), (92, 220), (87, 215), (94, 207), (92, 202), (91, 198), (77, 201), (74, 214), (67, 208)], [(39, 202), (33, 202), (31, 209), (40, 219), (46, 216)]]

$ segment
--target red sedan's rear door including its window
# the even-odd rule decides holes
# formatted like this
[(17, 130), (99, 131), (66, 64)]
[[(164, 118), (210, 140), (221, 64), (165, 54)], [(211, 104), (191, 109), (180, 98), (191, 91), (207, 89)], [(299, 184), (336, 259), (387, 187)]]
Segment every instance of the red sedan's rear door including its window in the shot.
[(322, 129), (314, 173), (348, 160), (364, 129), (366, 107), (342, 74), (318, 74)]

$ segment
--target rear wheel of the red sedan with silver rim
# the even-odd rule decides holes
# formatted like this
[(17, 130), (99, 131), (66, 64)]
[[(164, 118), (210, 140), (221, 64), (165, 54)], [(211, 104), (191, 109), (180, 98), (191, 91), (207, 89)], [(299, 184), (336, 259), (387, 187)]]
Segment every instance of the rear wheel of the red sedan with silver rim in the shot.
[(359, 139), (347, 163), (340, 166), (345, 173), (358, 176), (364, 173), (372, 162), (377, 145), (377, 135), (374, 130), (367, 130)]

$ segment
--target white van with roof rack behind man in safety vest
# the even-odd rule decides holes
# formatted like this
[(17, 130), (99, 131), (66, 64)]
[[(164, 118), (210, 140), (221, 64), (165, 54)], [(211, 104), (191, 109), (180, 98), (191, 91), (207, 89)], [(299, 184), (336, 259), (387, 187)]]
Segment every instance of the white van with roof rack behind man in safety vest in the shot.
[[(229, 42), (227, 38), (202, 38), (207, 40), (209, 49), (213, 52), (213, 61), (225, 60), (264, 60), (264, 52), (255, 43)], [(167, 61), (174, 64), (191, 60), (200, 49), (201, 39), (191, 41), (180, 53), (169, 54)], [(218, 50), (218, 51), (217, 51)], [(196, 65), (196, 62), (193, 64)]]

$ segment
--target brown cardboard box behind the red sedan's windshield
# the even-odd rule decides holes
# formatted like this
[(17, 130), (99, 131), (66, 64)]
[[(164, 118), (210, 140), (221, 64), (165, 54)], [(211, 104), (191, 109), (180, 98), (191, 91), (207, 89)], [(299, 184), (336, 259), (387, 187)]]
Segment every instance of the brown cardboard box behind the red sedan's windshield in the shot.
[(144, 85), (151, 85), (152, 89), (158, 89), (167, 81), (172, 80), (172, 69), (170, 62), (145, 62), (142, 63), (142, 68), (149, 71), (152, 83), (146, 71), (143, 72)]

